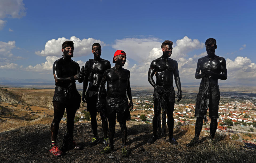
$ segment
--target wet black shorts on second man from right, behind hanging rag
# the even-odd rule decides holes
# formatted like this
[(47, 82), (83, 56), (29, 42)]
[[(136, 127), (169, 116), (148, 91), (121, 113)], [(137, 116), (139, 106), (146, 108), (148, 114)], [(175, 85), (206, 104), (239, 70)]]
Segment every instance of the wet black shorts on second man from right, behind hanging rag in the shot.
[[(170, 102), (175, 103), (175, 91), (174, 91), (174, 87), (161, 87), (158, 86), (164, 93), (165, 93), (165, 98), (166, 100), (168, 99)], [(155, 99), (159, 99), (159, 94), (157, 92), (157, 90), (154, 89), (154, 100)]]

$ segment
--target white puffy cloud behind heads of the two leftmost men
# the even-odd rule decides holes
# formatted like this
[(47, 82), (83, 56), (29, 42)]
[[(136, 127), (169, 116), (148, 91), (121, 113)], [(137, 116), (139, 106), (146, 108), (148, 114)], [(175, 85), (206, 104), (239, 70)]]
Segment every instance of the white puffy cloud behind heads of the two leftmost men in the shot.
[(56, 39), (52, 39), (46, 42), (45, 49), (35, 52), (36, 55), (39, 56), (61, 56), (61, 45), (63, 42), (71, 40), (74, 42), (74, 56), (86, 56), (91, 54), (91, 45), (93, 43), (101, 44), (101, 47), (105, 46), (105, 43), (101, 40), (96, 40), (93, 38), (82, 39), (80, 40), (78, 37), (72, 36), (70, 39), (66, 39), (65, 37), (61, 37)]

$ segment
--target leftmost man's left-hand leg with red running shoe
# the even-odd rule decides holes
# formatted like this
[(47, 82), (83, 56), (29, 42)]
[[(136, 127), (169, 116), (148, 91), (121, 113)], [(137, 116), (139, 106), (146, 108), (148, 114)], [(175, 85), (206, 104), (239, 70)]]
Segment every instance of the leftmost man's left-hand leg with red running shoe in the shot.
[(56, 144), (56, 139), (59, 131), (59, 122), (64, 115), (65, 106), (62, 105), (60, 102), (53, 102), (53, 110), (54, 110), (54, 117), (53, 122), (51, 123), (51, 145), (50, 145), (50, 152), (53, 153), (54, 156), (61, 156), (63, 152), (59, 150)]

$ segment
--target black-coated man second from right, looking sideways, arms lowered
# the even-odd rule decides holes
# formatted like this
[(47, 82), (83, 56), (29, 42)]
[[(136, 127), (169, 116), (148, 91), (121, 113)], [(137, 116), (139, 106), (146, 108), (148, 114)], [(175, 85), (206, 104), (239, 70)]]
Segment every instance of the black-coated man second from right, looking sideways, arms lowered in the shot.
[[(152, 61), (148, 73), (148, 81), (154, 87), (154, 118), (153, 118), (153, 137), (148, 140), (149, 144), (153, 144), (158, 136), (165, 136), (165, 111), (167, 114), (167, 125), (169, 128), (169, 142), (173, 145), (178, 145), (178, 142), (173, 138), (173, 110), (175, 98), (178, 98), (178, 102), (181, 100), (181, 82), (179, 78), (179, 70), (177, 61), (169, 58), (172, 53), (173, 42), (166, 40), (162, 43), (163, 55), (160, 58)], [(156, 82), (153, 76), (156, 77)], [(178, 93), (175, 97), (173, 87), (173, 76), (175, 84), (178, 89)], [(161, 131), (161, 108), (163, 108), (162, 115), (162, 131)], [(159, 129), (157, 136), (157, 128)], [(162, 132), (162, 133), (161, 133)]]

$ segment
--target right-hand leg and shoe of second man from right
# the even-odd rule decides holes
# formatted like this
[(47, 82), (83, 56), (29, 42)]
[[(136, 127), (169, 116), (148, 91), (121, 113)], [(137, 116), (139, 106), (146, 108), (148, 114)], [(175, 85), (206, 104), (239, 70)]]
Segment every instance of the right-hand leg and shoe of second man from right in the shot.
[(169, 141), (173, 145), (178, 145), (178, 142), (173, 138), (173, 127), (174, 127), (174, 118), (173, 118), (173, 110), (174, 110), (174, 102), (167, 101), (167, 125), (169, 129)]

